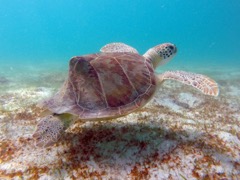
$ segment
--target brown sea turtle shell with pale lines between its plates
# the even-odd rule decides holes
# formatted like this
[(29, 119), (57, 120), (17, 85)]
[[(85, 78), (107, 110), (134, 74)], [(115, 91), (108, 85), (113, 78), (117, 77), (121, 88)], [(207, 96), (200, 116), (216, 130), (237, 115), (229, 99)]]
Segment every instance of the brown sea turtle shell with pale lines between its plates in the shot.
[(156, 90), (152, 63), (128, 52), (76, 56), (62, 88), (44, 102), (80, 119), (119, 117), (144, 106)]

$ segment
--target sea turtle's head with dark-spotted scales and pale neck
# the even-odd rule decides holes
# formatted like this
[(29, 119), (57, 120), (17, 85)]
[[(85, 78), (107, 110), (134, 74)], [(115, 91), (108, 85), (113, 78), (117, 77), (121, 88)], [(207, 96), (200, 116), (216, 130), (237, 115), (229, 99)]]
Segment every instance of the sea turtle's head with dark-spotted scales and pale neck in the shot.
[(177, 47), (171, 43), (164, 43), (149, 49), (143, 56), (150, 59), (154, 69), (170, 61), (177, 53)]

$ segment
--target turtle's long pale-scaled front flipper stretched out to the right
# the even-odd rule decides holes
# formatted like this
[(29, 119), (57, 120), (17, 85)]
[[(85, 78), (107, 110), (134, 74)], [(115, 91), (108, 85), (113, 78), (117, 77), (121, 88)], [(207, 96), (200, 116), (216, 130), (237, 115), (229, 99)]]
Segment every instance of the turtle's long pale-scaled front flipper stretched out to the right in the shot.
[(218, 84), (211, 78), (201, 74), (185, 71), (167, 71), (158, 75), (158, 78), (160, 82), (167, 79), (179, 81), (200, 90), (206, 95), (218, 96), (219, 93)]

